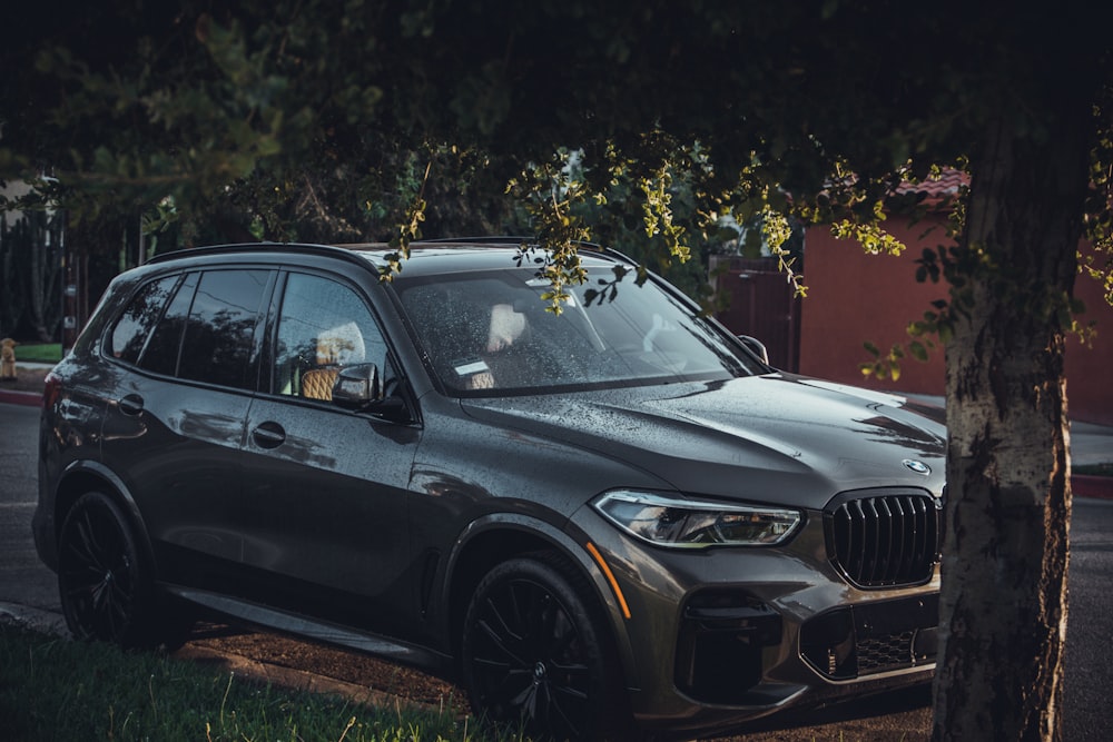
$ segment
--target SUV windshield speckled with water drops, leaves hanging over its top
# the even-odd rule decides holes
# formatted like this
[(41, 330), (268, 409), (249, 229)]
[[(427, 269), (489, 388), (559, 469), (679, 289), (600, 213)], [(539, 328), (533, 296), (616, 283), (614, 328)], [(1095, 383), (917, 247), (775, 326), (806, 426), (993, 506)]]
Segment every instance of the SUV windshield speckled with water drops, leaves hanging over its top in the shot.
[(730, 338), (633, 271), (595, 269), (546, 311), (549, 284), (530, 269), (397, 280), (434, 373), (452, 393), (725, 379), (766, 369)]

